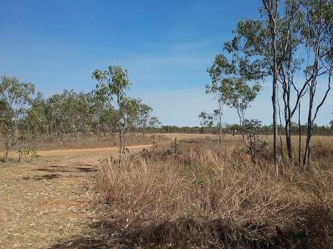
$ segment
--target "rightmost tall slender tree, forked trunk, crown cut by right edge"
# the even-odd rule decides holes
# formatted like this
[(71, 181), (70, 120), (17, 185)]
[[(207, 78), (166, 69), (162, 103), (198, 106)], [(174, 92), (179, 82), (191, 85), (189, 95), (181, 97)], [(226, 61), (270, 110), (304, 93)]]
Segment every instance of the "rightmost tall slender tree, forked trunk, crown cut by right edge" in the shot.
[[(303, 167), (306, 168), (310, 160), (312, 126), (319, 109), (321, 109), (331, 89), (333, 72), (333, 2), (331, 0), (306, 0), (304, 8), (306, 16), (302, 35), (305, 39), (305, 48), (308, 54), (305, 77), (307, 82), (309, 82), (307, 140), (303, 156)], [(323, 75), (326, 78), (323, 78)], [(319, 104), (314, 107), (314, 98), (316, 96), (318, 81), (320, 80), (327, 80), (327, 89)], [(315, 111), (313, 114), (314, 108)]]

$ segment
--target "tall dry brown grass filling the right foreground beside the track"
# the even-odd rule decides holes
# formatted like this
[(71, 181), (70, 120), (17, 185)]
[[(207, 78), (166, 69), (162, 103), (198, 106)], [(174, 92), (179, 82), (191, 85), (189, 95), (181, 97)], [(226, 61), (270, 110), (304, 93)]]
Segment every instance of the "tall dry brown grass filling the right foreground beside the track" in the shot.
[[(328, 138), (327, 138), (328, 141)], [(314, 142), (311, 169), (276, 172), (263, 151), (257, 165), (225, 139), (182, 143), (104, 165), (96, 196), (107, 208), (112, 248), (332, 248), (333, 151)], [(213, 144), (213, 142), (212, 142)], [(105, 228), (106, 225), (104, 225)]]

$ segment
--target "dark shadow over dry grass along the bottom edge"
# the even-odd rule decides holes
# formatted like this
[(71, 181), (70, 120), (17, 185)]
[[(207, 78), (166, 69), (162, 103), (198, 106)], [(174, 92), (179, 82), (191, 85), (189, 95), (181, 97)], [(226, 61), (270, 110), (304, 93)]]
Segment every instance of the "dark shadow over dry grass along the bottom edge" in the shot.
[[(56, 243), (49, 249), (87, 248), (248, 248), (309, 249), (307, 234), (302, 231), (268, 232), (263, 225), (246, 224), (232, 228), (219, 219), (197, 223), (192, 219), (136, 223), (128, 227), (117, 221), (100, 221), (89, 225), (94, 232)], [(251, 237), (262, 231), (262, 236)], [(266, 232), (266, 234), (265, 234)], [(259, 232), (260, 233), (260, 232)]]

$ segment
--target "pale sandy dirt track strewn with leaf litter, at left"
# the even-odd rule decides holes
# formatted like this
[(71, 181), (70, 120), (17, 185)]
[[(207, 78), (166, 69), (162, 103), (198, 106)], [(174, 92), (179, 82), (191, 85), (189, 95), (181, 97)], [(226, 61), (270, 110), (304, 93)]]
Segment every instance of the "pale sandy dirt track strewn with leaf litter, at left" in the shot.
[(39, 151), (42, 158), (31, 163), (1, 165), (0, 248), (50, 248), (87, 232), (94, 219), (89, 185), (99, 159), (117, 152), (117, 147)]

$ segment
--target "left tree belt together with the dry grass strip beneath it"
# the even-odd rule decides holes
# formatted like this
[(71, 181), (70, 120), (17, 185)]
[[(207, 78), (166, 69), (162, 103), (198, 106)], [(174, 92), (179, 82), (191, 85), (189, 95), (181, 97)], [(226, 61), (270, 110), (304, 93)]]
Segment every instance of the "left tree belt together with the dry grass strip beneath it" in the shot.
[[(130, 108), (129, 101), (126, 102), (123, 108), (126, 119), (121, 120), (123, 116), (113, 103), (94, 92), (64, 90), (44, 98), (40, 92), (35, 94), (33, 84), (3, 76), (0, 102), (4, 162), (9, 151), (21, 154), (29, 149), (105, 147), (121, 145), (121, 142), (123, 149), (123, 145), (146, 144), (158, 139), (145, 136), (149, 131), (153, 133), (160, 122), (152, 116), (153, 109), (140, 99), (131, 101)], [(121, 140), (116, 136), (119, 132)]]

